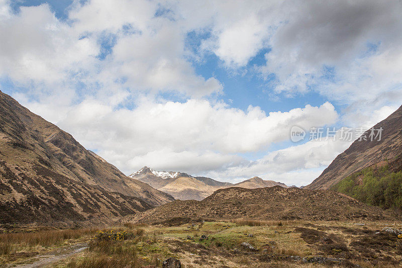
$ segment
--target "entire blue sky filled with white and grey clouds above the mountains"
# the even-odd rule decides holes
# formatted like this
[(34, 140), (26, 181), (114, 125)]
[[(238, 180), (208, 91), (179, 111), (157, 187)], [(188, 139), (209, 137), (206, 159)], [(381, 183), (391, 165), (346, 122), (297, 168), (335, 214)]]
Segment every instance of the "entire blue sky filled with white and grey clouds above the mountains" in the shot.
[(342, 129), (402, 104), (400, 14), (377, 0), (0, 0), (0, 90), (127, 175), (308, 185), (350, 146)]

